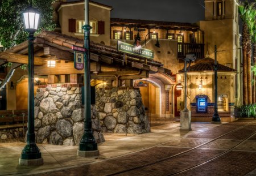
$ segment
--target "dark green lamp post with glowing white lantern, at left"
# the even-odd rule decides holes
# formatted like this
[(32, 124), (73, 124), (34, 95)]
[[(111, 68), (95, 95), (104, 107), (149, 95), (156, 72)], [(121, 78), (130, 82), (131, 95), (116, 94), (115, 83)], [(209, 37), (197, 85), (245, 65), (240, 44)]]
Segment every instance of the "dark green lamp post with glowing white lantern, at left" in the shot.
[(22, 150), (19, 158), (19, 165), (39, 166), (43, 165), (43, 158), (40, 149), (35, 142), (34, 125), (34, 33), (39, 26), (40, 13), (32, 7), (23, 11), (24, 29), (29, 33), (28, 36), (28, 127), (27, 127), (27, 145)]

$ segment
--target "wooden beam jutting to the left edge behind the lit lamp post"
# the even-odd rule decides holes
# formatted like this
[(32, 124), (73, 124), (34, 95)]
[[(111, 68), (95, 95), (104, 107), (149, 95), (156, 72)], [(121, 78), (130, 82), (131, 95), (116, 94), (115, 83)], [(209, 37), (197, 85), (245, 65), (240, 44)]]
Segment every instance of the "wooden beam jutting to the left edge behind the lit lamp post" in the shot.
[[(28, 64), (28, 55), (0, 52), (0, 59), (6, 59), (7, 62)], [(44, 61), (44, 58), (34, 57), (34, 65), (44, 65)]]

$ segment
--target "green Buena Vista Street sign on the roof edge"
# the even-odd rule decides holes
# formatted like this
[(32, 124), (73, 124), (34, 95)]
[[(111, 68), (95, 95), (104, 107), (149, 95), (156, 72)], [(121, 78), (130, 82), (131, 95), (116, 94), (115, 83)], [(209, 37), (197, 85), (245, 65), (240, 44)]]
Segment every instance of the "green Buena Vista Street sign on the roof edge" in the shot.
[(139, 55), (148, 59), (154, 59), (154, 51), (144, 48), (138, 48), (137, 46), (127, 44), (122, 41), (118, 41), (117, 50), (124, 53)]

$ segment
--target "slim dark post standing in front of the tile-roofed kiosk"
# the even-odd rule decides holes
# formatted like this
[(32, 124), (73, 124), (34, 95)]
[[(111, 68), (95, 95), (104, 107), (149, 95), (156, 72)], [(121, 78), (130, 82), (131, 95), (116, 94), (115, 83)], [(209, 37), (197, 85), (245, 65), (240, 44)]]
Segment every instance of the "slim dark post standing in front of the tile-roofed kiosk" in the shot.
[(218, 115), (218, 102), (217, 102), (217, 93), (218, 93), (218, 80), (217, 80), (217, 46), (214, 45), (214, 114), (212, 117), (212, 123), (221, 123), (220, 116)]

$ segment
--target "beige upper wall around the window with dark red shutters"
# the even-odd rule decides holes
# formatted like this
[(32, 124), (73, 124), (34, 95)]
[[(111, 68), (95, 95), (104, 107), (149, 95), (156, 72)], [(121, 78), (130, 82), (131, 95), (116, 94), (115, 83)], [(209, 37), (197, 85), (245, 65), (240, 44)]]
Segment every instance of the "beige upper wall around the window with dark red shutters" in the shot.
[[(105, 34), (90, 34), (90, 41), (96, 43), (104, 42), (105, 45), (110, 45), (110, 10), (111, 8), (89, 2), (89, 20), (105, 22)], [(68, 32), (68, 19), (84, 20), (84, 2), (61, 5), (58, 12), (61, 33), (84, 39), (84, 33)]]

